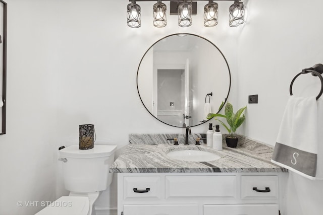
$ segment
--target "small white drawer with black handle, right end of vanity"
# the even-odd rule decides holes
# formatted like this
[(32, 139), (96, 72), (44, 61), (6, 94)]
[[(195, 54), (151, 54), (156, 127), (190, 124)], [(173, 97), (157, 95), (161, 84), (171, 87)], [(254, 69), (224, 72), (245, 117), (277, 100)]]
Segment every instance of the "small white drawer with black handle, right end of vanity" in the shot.
[(241, 198), (277, 199), (278, 176), (241, 176)]

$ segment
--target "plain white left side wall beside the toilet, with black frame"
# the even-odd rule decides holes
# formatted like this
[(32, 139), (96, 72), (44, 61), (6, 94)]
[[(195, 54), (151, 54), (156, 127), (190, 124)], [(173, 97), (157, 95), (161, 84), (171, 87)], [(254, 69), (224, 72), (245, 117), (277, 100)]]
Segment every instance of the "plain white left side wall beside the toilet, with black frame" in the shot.
[(6, 2), (7, 134), (0, 135), (0, 214), (34, 214), (36, 201), (56, 198), (58, 5)]

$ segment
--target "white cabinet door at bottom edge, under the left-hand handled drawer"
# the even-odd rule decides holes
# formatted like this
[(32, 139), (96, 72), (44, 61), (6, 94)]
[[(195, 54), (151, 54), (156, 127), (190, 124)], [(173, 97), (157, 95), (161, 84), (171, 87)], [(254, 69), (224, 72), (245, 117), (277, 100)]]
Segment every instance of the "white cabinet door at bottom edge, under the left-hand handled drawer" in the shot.
[(124, 215), (197, 215), (197, 204), (125, 204)]

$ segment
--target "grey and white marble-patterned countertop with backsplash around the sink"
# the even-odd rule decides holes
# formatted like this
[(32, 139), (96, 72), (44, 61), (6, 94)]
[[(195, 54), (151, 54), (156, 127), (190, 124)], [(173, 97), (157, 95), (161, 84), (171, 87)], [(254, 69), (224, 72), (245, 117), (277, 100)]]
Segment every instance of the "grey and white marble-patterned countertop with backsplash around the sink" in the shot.
[[(223, 140), (223, 150), (213, 150), (190, 135), (190, 145), (184, 145), (183, 134), (130, 134), (129, 145), (110, 167), (113, 173), (209, 173), (209, 172), (287, 172), (271, 163), (273, 147), (247, 137), (239, 136), (237, 148), (229, 148)], [(179, 146), (168, 138), (177, 137)], [(225, 138), (225, 137), (223, 137)], [(167, 153), (175, 150), (200, 150), (220, 155), (216, 161), (191, 162), (169, 158)]]

